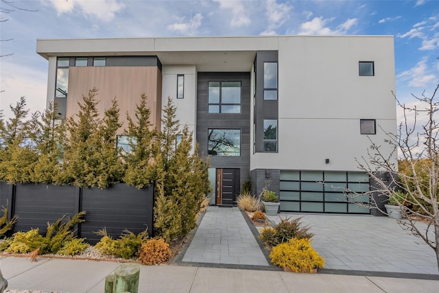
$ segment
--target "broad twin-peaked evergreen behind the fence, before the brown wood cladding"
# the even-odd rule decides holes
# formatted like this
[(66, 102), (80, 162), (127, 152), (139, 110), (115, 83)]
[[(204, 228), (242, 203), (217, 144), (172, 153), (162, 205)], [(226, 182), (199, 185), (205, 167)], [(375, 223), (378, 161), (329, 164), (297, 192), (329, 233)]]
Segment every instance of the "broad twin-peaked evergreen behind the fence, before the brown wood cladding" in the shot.
[(62, 176), (59, 183), (82, 187), (108, 187), (123, 176), (117, 156), (116, 132), (121, 127), (117, 101), (99, 119), (97, 90), (83, 95), (77, 120), (67, 120), (68, 137), (65, 143)]

